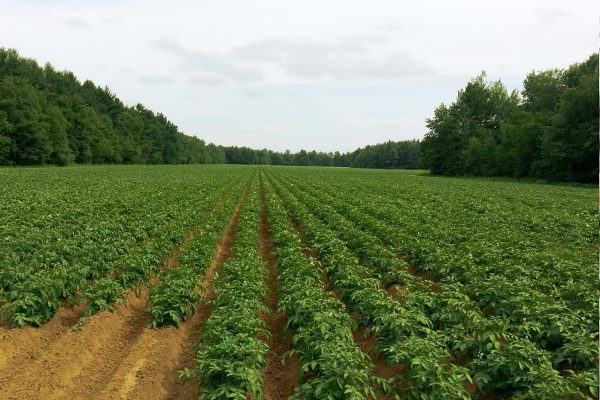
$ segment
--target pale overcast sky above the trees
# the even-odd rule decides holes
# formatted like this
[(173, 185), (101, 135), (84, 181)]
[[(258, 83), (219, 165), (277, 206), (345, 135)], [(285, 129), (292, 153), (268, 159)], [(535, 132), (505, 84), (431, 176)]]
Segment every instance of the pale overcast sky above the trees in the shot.
[(598, 49), (592, 0), (0, 0), (0, 47), (221, 145), (420, 139), (481, 71), (509, 90)]

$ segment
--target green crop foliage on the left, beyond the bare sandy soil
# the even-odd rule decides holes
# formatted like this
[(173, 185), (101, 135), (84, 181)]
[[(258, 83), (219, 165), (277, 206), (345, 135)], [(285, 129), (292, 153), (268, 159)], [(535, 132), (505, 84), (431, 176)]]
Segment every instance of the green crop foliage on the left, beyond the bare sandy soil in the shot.
[[(6, 189), (0, 194), (0, 303), (13, 325), (39, 326), (75, 299), (87, 300), (86, 315), (111, 310), (128, 288), (160, 270), (191, 227), (214, 225), (216, 216), (228, 218), (222, 213), (231, 213), (231, 200), (220, 212), (212, 211), (232, 188), (241, 191), (245, 171), (203, 167), (198, 174), (171, 168), (177, 169), (77, 167), (0, 174)], [(202, 234), (202, 245), (192, 246), (196, 258), (192, 252), (182, 257), (195, 272), (188, 281), (175, 273), (177, 284), (166, 282), (168, 290), (158, 290), (164, 303), (157, 300), (157, 309), (168, 313), (186, 304), (180, 312), (193, 312), (188, 308), (196, 295), (187, 289), (195, 287), (195, 278), (207, 267), (222, 230), (208, 228), (212, 236)], [(181, 302), (171, 303), (170, 290)]]

